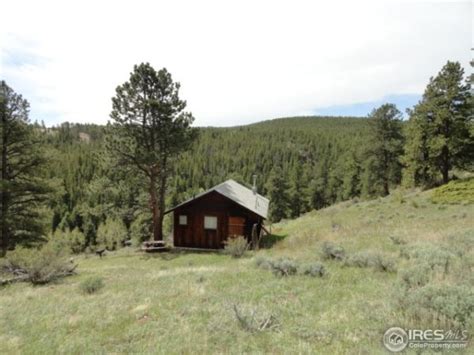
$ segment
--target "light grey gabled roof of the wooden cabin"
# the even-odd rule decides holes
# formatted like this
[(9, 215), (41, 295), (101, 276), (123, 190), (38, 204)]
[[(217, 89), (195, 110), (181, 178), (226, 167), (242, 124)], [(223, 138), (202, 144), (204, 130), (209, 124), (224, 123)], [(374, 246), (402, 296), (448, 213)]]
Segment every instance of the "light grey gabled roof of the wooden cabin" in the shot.
[(191, 201), (196, 200), (199, 197), (207, 195), (210, 192), (217, 192), (230, 200), (234, 201), (238, 205), (245, 207), (246, 209), (258, 214), (260, 217), (267, 218), (268, 215), (268, 204), (269, 200), (258, 193), (254, 193), (252, 189), (249, 189), (237, 181), (229, 179), (223, 183), (211, 187), (209, 190), (201, 192), (200, 194), (186, 200), (179, 205), (169, 209), (165, 213), (171, 212), (178, 207), (184, 206)]

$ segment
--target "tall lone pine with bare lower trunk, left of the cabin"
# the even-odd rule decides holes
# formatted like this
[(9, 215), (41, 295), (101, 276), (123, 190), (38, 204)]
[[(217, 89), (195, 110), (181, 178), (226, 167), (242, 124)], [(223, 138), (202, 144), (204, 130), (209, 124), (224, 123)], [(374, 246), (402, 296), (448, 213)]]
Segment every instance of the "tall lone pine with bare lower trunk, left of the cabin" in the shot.
[(172, 160), (186, 150), (196, 136), (194, 118), (184, 112), (179, 83), (166, 69), (150, 64), (134, 67), (130, 80), (116, 89), (110, 114), (108, 149), (119, 164), (142, 174), (148, 182), (153, 238), (163, 239), (163, 216), (167, 179)]

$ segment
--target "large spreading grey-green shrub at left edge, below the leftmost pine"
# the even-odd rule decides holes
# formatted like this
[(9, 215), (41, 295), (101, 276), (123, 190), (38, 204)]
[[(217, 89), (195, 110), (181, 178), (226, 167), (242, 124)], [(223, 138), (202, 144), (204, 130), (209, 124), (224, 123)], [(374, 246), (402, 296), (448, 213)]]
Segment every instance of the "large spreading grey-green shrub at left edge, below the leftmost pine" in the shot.
[(41, 249), (18, 247), (7, 253), (0, 267), (4, 272), (13, 275), (16, 281), (46, 284), (74, 274), (76, 265), (64, 251), (58, 250), (52, 243), (47, 243)]

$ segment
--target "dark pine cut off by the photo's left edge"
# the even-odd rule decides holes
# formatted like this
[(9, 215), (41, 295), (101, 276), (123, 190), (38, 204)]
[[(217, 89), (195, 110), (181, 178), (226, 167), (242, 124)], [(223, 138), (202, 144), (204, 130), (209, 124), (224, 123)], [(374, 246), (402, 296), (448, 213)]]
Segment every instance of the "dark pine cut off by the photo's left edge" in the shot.
[(40, 179), (45, 162), (38, 130), (29, 126), (29, 103), (0, 82), (0, 255), (18, 243), (38, 241), (38, 207), (49, 192)]

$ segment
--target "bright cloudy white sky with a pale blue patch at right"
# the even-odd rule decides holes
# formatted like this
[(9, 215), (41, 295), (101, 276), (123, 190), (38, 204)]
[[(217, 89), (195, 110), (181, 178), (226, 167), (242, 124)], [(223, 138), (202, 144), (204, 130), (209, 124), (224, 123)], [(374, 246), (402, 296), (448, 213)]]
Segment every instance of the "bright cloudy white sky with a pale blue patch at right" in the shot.
[(196, 126), (367, 115), (470, 72), (470, 1), (24, 1), (2, 4), (0, 80), (31, 120), (105, 124), (134, 64), (166, 67)]

